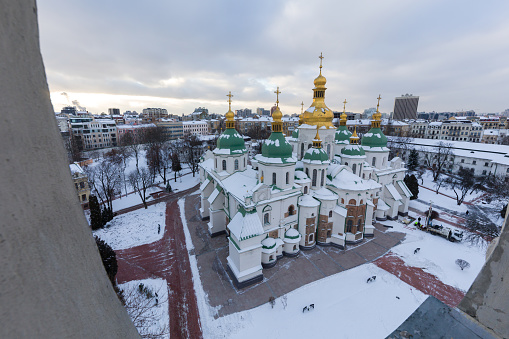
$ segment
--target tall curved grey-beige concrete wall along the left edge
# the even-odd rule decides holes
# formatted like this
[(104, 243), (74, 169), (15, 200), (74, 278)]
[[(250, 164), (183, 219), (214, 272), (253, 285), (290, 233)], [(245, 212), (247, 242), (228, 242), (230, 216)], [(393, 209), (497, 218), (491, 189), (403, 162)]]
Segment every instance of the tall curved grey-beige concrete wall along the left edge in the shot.
[(0, 0), (0, 338), (136, 338), (71, 180), (35, 1)]

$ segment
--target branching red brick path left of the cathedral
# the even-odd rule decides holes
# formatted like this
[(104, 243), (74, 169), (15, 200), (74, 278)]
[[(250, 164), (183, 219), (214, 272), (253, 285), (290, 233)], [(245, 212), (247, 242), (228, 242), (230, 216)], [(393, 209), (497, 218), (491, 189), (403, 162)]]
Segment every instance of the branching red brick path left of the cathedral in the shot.
[[(175, 194), (174, 197), (178, 196)], [(177, 199), (166, 203), (166, 229), (161, 240), (116, 253), (118, 283), (147, 278), (166, 279), (171, 338), (203, 337)]]

